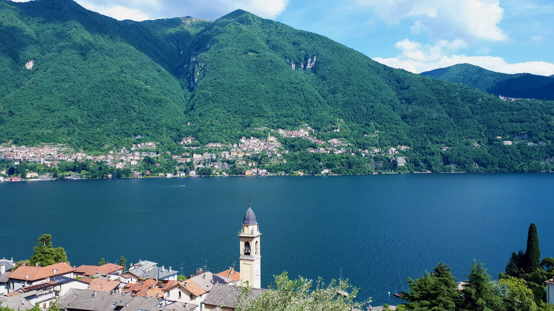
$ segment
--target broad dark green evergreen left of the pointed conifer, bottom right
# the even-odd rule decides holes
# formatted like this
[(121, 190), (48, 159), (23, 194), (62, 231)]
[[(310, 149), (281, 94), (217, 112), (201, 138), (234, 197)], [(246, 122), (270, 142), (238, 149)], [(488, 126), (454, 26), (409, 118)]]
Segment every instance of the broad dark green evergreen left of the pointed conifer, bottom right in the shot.
[(408, 278), (410, 291), (402, 298), (408, 302), (407, 310), (417, 311), (456, 311), (460, 293), (456, 279), (447, 265), (439, 262), (433, 273), (425, 273), (413, 281)]

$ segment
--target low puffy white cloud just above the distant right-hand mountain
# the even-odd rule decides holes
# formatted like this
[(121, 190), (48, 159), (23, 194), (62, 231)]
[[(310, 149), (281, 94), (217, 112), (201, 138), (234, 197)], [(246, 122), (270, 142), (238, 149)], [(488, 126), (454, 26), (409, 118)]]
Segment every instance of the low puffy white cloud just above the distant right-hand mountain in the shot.
[(546, 63), (545, 61), (527, 61), (525, 63), (510, 64), (498, 56), (455, 54), (456, 50), (466, 48), (465, 42), (460, 39), (452, 41), (439, 40), (434, 44), (422, 44), (404, 39), (397, 42), (394, 46), (401, 51), (397, 57), (377, 57), (373, 58), (373, 60), (393, 68), (406, 69), (416, 74), (463, 63), (497, 72), (505, 72), (506, 74), (517, 74), (520, 72), (545, 76), (554, 74), (554, 64)]

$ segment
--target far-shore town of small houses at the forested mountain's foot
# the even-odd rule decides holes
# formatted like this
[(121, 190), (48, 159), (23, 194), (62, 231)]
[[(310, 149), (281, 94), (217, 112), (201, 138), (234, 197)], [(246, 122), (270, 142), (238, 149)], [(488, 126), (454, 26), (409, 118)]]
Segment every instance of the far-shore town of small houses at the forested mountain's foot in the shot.
[[(340, 132), (340, 126), (332, 130)], [(364, 134), (365, 137), (377, 136)], [(284, 139), (301, 139), (309, 146), (296, 148), (284, 146)], [(505, 146), (525, 143), (541, 146), (544, 142), (508, 141), (501, 136), (497, 141)], [(477, 142), (469, 142), (471, 148), (479, 148)], [(441, 152), (449, 146), (438, 146)], [(332, 157), (372, 158), (372, 168), (366, 172), (406, 173), (411, 157), (411, 147), (406, 145), (387, 148), (355, 148), (344, 138), (318, 138), (309, 125), (297, 130), (269, 129), (267, 136), (240, 138), (236, 143), (212, 142), (200, 146), (196, 137), (183, 137), (178, 147), (163, 151), (158, 142), (134, 143), (128, 147), (111, 149), (105, 153), (75, 150), (64, 144), (45, 144), (39, 147), (0, 144), (0, 182), (20, 180), (89, 179), (89, 178), (174, 178), (230, 175), (341, 175), (336, 161), (319, 160), (318, 168), (291, 165), (293, 153), (322, 154)], [(321, 158), (321, 157), (320, 157)], [(86, 164), (86, 165), (85, 165)], [(287, 165), (289, 164), (289, 165)], [(337, 167), (339, 165), (339, 167)], [(343, 164), (342, 164), (343, 165)], [(351, 165), (352, 166), (352, 165)], [(429, 172), (429, 171), (427, 171)], [(425, 173), (425, 172), (423, 172)], [(358, 172), (359, 174), (359, 172)]]

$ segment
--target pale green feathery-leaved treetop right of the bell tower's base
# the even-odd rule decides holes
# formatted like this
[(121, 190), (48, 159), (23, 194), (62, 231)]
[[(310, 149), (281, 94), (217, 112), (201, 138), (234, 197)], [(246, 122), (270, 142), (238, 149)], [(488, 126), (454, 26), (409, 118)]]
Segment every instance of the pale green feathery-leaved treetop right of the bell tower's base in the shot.
[(275, 286), (270, 287), (256, 298), (249, 298), (250, 288), (237, 287), (237, 311), (266, 310), (317, 310), (351, 311), (361, 309), (366, 302), (355, 302), (358, 292), (348, 281), (335, 281), (325, 284), (321, 279), (314, 282), (300, 277), (290, 280), (288, 273), (275, 276)]

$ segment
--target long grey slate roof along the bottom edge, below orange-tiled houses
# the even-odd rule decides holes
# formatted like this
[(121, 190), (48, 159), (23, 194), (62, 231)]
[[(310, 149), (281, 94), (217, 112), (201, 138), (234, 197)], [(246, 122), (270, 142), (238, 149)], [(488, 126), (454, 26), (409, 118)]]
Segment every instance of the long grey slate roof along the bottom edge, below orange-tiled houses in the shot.
[(90, 289), (70, 289), (59, 299), (61, 310), (86, 310), (86, 311), (112, 311), (117, 307), (125, 307), (126, 311), (157, 311), (160, 309), (158, 303), (160, 299), (153, 297), (133, 297), (125, 294), (111, 294), (106, 292), (96, 292)]

